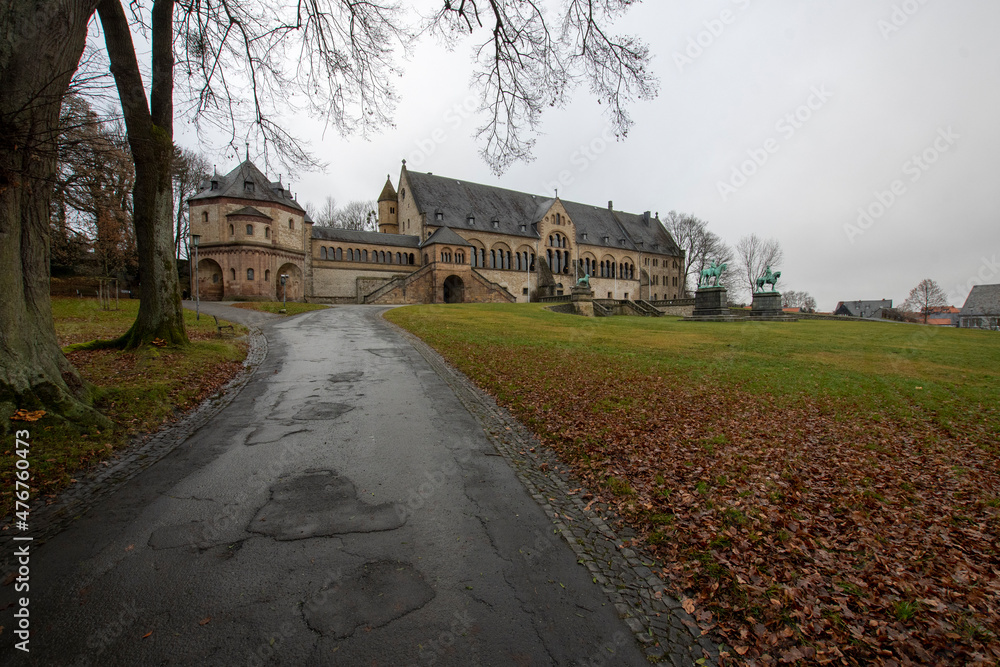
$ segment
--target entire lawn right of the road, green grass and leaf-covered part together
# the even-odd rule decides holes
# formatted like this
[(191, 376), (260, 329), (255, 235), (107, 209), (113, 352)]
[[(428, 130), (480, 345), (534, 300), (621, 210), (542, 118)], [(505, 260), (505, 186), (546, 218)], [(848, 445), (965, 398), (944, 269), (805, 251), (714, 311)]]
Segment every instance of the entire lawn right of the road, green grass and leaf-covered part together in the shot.
[(740, 655), (1000, 659), (995, 332), (539, 304), (385, 317), (573, 466)]

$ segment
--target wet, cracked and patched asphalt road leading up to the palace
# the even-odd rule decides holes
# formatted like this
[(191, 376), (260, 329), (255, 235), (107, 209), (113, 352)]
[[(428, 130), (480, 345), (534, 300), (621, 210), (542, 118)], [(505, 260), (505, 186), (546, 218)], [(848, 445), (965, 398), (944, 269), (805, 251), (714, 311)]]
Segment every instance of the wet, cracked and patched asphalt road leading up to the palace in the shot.
[(32, 650), (0, 662), (647, 664), (381, 311), (263, 323), (232, 404), (34, 552)]

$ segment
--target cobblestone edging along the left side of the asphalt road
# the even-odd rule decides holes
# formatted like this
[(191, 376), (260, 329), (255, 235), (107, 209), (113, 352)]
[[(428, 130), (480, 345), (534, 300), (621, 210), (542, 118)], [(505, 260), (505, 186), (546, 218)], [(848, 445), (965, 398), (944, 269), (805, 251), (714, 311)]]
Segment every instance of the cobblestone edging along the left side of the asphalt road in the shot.
[(32, 503), (31, 535), (36, 545), (62, 531), (99, 500), (172, 452), (233, 402), (267, 357), (267, 338), (257, 327), (250, 326), (248, 329), (247, 358), (243, 361), (243, 368), (222, 389), (206, 398), (176, 422), (164, 425), (155, 433), (146, 433), (133, 438), (128, 446), (121, 450), (119, 458), (108, 462), (110, 465), (98, 465), (83, 473), (76, 484), (59, 494), (55, 502), (46, 504), (45, 501), (38, 499)]

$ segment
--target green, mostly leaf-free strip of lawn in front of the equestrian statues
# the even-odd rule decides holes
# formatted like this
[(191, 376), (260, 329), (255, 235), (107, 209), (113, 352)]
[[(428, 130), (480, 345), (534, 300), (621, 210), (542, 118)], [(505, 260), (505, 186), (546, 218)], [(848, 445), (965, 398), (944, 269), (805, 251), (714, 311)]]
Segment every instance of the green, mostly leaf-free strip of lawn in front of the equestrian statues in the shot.
[(400, 308), (386, 319), (441, 349), (597, 355), (639, 373), (683, 378), (709, 393), (738, 389), (792, 403), (822, 398), (847, 414), (929, 418), (1000, 439), (995, 332), (829, 320), (584, 318), (540, 304)]

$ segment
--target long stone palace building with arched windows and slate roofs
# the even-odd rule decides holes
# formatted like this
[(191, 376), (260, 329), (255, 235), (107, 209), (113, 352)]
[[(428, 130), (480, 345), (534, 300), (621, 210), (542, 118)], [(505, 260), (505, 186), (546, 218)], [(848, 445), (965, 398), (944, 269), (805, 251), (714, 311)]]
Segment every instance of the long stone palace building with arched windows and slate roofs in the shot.
[[(410, 171), (378, 197), (378, 231), (314, 225), (244, 161), (188, 200), (202, 299), (319, 303), (526, 302), (569, 294), (683, 297), (683, 252), (657, 216)], [(193, 280), (193, 278), (192, 278)], [(192, 284), (192, 294), (194, 285)]]

